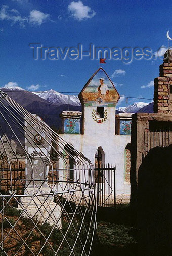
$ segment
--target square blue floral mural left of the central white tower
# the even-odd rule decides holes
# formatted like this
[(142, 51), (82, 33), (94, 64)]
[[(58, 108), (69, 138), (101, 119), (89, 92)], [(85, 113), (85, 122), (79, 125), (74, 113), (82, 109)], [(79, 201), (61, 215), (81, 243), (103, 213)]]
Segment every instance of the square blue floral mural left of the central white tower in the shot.
[(80, 120), (75, 118), (66, 118), (64, 120), (64, 133), (80, 134)]

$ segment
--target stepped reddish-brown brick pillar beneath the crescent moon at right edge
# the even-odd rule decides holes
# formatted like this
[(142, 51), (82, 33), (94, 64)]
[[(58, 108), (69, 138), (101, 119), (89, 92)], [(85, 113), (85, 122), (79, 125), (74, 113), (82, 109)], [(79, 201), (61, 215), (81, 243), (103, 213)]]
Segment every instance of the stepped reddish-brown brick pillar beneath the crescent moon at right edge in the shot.
[(172, 59), (165, 58), (159, 70), (159, 77), (154, 79), (154, 113), (172, 114)]

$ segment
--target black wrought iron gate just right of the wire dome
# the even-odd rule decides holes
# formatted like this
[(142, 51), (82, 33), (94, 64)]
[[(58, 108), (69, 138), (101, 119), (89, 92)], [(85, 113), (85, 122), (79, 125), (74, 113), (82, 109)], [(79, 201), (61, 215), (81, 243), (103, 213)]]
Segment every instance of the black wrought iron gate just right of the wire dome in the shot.
[(95, 182), (97, 183), (97, 205), (99, 207), (116, 207), (115, 193), (115, 165), (95, 168)]

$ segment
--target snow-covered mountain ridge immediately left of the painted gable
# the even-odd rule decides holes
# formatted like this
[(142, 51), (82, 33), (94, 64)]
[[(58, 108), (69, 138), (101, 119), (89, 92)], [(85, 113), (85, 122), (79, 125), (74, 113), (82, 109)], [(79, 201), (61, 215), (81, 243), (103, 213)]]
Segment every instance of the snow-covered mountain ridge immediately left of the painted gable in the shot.
[(77, 96), (64, 95), (52, 89), (44, 92), (33, 92), (33, 93), (47, 100), (48, 102), (54, 103), (58, 106), (62, 104), (70, 104), (73, 106), (81, 105)]

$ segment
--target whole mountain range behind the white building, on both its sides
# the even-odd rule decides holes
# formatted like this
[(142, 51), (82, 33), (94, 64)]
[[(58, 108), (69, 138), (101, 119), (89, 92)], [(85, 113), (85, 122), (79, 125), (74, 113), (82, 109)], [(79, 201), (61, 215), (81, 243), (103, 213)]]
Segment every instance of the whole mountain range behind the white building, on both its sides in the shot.
[[(45, 92), (29, 92), (21, 87), (1, 88), (8, 93), (9, 97), (23, 106), (30, 113), (37, 114), (50, 127), (57, 131), (61, 128), (62, 121), (60, 113), (64, 110), (81, 111), (81, 104), (77, 96), (63, 95), (55, 90)], [(153, 103), (135, 102), (127, 108), (119, 107), (116, 114), (120, 112), (153, 112)]]

